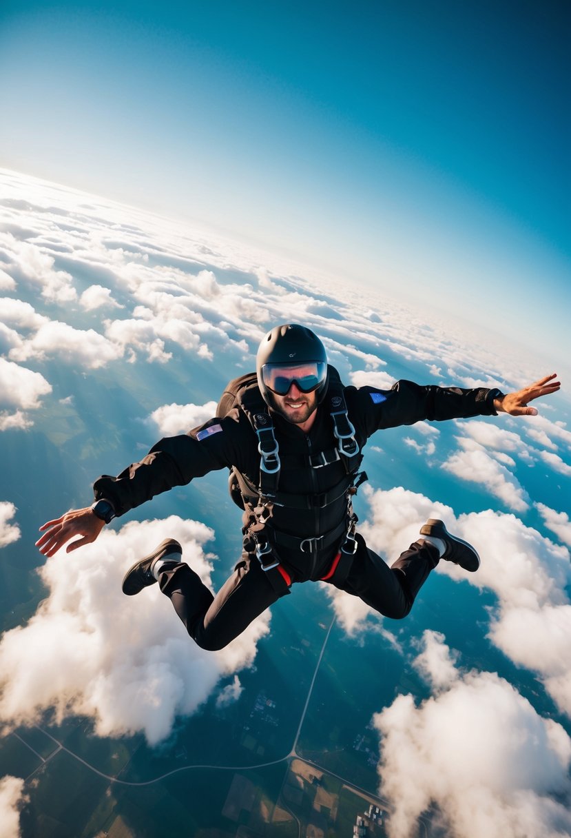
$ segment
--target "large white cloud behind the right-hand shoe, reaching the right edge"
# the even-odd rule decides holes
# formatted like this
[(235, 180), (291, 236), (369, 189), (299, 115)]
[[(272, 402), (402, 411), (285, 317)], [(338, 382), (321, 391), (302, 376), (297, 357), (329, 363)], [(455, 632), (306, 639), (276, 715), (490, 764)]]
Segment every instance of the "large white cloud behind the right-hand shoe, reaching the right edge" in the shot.
[[(450, 532), (476, 547), (481, 556), (477, 573), (447, 561), (440, 561), (436, 572), (496, 593), (490, 639), (517, 664), (537, 672), (553, 701), (571, 716), (571, 660), (565, 651), (571, 636), (571, 605), (565, 594), (571, 582), (568, 550), (515, 515), (486, 510), (456, 519), (450, 507), (401, 487), (373, 492), (366, 486), (363, 494), (371, 515), (360, 530), (371, 549), (389, 557), (389, 564), (416, 541), (427, 518), (444, 520)], [(553, 654), (541, 654), (532, 633)]]

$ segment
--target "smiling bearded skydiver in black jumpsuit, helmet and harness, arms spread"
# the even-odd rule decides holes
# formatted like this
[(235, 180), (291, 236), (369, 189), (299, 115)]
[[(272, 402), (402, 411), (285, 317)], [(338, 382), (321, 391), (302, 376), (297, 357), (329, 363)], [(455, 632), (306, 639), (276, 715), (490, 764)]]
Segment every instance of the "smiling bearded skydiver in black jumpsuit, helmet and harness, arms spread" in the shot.
[[(157, 442), (147, 457), (116, 478), (98, 478), (95, 504), (41, 527), (40, 551), (52, 556), (81, 535), (67, 547), (75, 550), (95, 541), (112, 518), (155, 494), (233, 467), (245, 502), (244, 551), (219, 592), (213, 595), (182, 561), (182, 548), (173, 539), (131, 567), (124, 592), (136, 594), (158, 581), (203, 649), (222, 649), (293, 583), (307, 580), (326, 579), (387, 617), (405, 617), (440, 558), (476, 571), (479, 557), (441, 521), (429, 520), (420, 530), (424, 538), (389, 568), (355, 533), (350, 504), (355, 461), (343, 451), (355, 443), (358, 454), (375, 431), (424, 419), (496, 416), (497, 411), (535, 415), (528, 402), (560, 385), (549, 375), (507, 395), (406, 380), (390, 391), (370, 386), (340, 391), (330, 381), (331, 370), (323, 344), (311, 330), (295, 324), (275, 327), (260, 344), (257, 386), (252, 385), (259, 401), (252, 414), (234, 406), (226, 416), (188, 434)], [(277, 484), (268, 476), (272, 469)]]

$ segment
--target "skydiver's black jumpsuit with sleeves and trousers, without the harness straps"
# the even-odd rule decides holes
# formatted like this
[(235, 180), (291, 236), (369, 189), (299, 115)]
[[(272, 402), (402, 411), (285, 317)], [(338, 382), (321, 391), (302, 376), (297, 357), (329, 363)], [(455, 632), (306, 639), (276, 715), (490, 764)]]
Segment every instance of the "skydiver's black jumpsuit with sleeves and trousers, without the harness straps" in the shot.
[[(420, 386), (398, 381), (392, 390), (347, 387), (345, 400), (355, 437), (363, 447), (373, 432), (387, 427), (410, 425), (420, 420), (453, 419), (495, 415), (491, 392), (477, 388)], [(332, 419), (327, 408), (317, 408), (308, 434), (274, 415), (275, 437), (280, 447), (281, 492), (307, 495), (306, 509), (275, 506), (270, 524), (275, 532), (282, 566), (291, 582), (318, 580), (327, 575), (342, 536), (326, 549), (302, 552), (291, 545), (280, 546), (279, 538), (313, 538), (338, 530), (347, 520), (344, 495), (326, 505), (319, 498), (337, 486), (346, 471), (342, 461), (322, 465), (320, 452), (335, 446)], [(116, 478), (104, 475), (95, 481), (95, 498), (111, 500), (117, 515), (151, 499), (154, 495), (188, 484), (193, 478), (220, 468), (235, 466), (249, 482), (259, 483), (258, 439), (247, 417), (234, 408), (224, 418), (214, 418), (188, 434), (157, 442), (140, 463), (126, 468)], [(330, 495), (335, 494), (331, 493)], [(299, 505), (299, 504), (298, 504)], [(294, 538), (295, 541), (295, 538)], [(390, 568), (357, 535), (358, 548), (351, 569), (337, 587), (361, 597), (365, 603), (390, 618), (405, 617), (426, 577), (438, 563), (432, 546), (412, 544)], [(255, 553), (244, 550), (241, 560), (214, 596), (187, 564), (162, 572), (162, 592), (172, 601), (188, 634), (203, 649), (222, 649), (280, 596), (260, 566)]]

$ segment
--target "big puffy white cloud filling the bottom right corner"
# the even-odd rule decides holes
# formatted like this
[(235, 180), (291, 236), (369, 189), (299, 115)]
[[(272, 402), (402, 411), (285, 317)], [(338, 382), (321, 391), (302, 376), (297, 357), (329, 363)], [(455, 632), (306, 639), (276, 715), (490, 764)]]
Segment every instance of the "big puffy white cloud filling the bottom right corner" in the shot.
[(446, 834), (457, 838), (567, 835), (571, 814), (557, 802), (571, 793), (571, 740), (563, 727), (538, 716), (495, 674), (454, 676), (446, 647), (435, 665), (441, 635), (424, 643), (417, 666), (434, 675), (444, 662), (444, 691), (418, 707), (412, 696), (398, 696), (373, 716), (382, 736), (380, 794), (393, 807), (389, 838), (416, 835), (419, 815), (432, 804)]

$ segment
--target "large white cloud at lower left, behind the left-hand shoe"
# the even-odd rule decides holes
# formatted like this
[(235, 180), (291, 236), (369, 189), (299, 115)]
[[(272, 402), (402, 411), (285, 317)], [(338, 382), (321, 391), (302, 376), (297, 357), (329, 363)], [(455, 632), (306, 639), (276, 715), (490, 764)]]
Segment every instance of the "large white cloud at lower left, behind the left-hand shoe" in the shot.
[(188, 638), (157, 585), (137, 597), (121, 592), (126, 568), (166, 534), (182, 543), (185, 559), (209, 585), (203, 544), (212, 530), (177, 516), (105, 530), (96, 544), (46, 561), (41, 575), (49, 596), (27, 625), (0, 642), (5, 726), (32, 724), (53, 708), (59, 720), (91, 716), (99, 736), (142, 731), (155, 744), (175, 716), (192, 714), (208, 698), (221, 675), (252, 663), (268, 613), (213, 653)]

